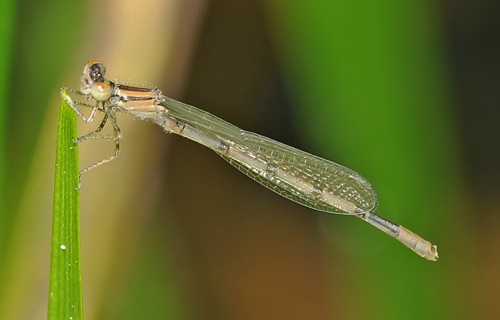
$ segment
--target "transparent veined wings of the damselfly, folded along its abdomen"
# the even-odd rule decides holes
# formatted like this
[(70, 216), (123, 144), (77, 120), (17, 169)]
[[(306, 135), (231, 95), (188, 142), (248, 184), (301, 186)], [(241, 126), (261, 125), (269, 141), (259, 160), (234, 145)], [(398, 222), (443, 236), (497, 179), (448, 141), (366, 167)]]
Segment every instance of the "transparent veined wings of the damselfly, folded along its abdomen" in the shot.
[[(182, 130), (261, 185), (306, 207), (341, 214), (373, 211), (378, 203), (370, 183), (351, 169), (240, 128), (168, 97), (162, 105)], [(358, 212), (359, 213), (359, 212)]]

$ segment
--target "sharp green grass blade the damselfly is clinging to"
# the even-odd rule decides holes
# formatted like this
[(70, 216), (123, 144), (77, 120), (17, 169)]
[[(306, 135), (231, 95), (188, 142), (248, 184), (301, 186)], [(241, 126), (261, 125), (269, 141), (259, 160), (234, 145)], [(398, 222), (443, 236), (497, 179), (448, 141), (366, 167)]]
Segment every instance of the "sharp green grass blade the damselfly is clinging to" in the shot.
[(83, 319), (76, 115), (63, 100), (57, 129), (48, 319)]

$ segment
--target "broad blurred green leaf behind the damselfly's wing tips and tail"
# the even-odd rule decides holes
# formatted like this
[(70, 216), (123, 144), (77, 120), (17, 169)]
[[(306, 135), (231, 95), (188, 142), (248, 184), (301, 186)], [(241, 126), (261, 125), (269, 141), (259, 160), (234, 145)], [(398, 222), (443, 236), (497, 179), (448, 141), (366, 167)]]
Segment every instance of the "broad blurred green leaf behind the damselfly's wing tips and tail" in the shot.
[[(381, 199), (377, 212), (439, 248), (443, 204), (455, 203), (459, 184), (432, 10), (425, 2), (391, 0), (276, 0), (272, 7), (301, 132), (313, 149), (374, 185)], [(369, 259), (353, 266), (356, 277), (347, 280), (355, 292), (374, 297), (353, 311), (361, 318), (443, 318), (450, 310), (428, 287), (444, 279), (442, 262), (430, 265), (359, 221), (324, 218), (342, 224), (336, 228), (343, 237), (339, 247), (358, 262)], [(387, 281), (396, 274), (401, 281)], [(401, 295), (408, 290), (418, 304)], [(383, 301), (392, 302), (390, 313)]]

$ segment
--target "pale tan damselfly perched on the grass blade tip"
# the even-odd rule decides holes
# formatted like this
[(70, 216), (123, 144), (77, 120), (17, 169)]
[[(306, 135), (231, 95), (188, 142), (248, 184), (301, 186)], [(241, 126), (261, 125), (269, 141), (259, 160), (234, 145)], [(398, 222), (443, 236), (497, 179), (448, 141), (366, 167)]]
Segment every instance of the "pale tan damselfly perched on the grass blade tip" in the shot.
[[(122, 134), (116, 114), (127, 113), (212, 149), (239, 171), (287, 199), (314, 210), (358, 217), (418, 255), (437, 260), (435, 245), (374, 213), (377, 194), (355, 171), (242, 130), (206, 111), (168, 98), (156, 87), (129, 86), (110, 81), (105, 75), (104, 65), (91, 61), (83, 69), (80, 90), (70, 91), (80, 99), (73, 100), (66, 88), (61, 90), (61, 96), (85, 122), (92, 122), (97, 112), (104, 113), (97, 129), (80, 137), (78, 142), (89, 139), (115, 142), (112, 156), (83, 169), (80, 175), (119, 155)], [(85, 117), (79, 107), (90, 108), (90, 115)], [(113, 135), (100, 135), (108, 122)]]

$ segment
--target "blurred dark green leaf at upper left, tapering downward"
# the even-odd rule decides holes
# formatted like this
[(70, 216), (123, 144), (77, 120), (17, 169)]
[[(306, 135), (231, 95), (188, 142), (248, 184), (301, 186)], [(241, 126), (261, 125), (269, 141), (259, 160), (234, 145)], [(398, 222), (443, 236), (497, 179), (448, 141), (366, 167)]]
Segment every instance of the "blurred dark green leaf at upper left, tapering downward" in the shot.
[[(11, 87), (6, 97), (9, 106), (6, 141), (9, 197), (6, 206), (11, 212), (18, 212), (26, 186), (33, 183), (31, 168), (38, 166), (32, 161), (36, 156), (38, 137), (44, 136), (40, 133), (43, 119), (53, 107), (54, 88), (63, 85), (61, 77), (71, 65), (74, 52), (79, 50), (79, 30), (83, 28), (86, 17), (83, 9), (89, 3), (23, 0), (17, 1), (16, 5), (19, 14), (9, 47), (12, 50), (8, 79)], [(27, 88), (29, 94), (26, 94)], [(15, 223), (19, 215), (22, 214), (9, 215), (7, 222)]]

